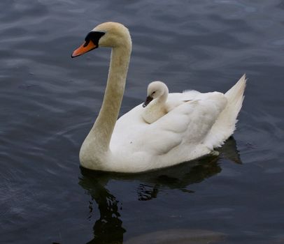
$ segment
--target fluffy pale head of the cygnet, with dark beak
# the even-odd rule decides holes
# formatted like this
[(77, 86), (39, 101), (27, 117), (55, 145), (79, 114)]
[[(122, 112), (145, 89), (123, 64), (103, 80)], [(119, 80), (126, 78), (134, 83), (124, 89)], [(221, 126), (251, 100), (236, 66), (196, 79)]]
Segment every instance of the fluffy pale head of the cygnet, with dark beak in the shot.
[(147, 98), (143, 103), (143, 107), (146, 107), (152, 100), (164, 96), (168, 96), (169, 89), (163, 82), (151, 82), (147, 89)]

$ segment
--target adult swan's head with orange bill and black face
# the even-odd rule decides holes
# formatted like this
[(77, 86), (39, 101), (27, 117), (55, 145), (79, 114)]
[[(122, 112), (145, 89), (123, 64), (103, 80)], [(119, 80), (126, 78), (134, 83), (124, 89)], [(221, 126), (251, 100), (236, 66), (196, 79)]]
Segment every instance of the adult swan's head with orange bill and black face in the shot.
[(128, 29), (120, 23), (105, 22), (94, 27), (85, 37), (85, 43), (78, 47), (72, 58), (90, 52), (97, 47), (132, 47)]

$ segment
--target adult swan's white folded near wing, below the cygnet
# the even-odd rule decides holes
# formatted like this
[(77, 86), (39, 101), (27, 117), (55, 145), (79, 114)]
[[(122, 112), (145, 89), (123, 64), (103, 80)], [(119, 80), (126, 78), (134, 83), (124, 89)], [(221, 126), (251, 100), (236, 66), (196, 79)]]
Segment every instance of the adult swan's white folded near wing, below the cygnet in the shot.
[(142, 119), (142, 105), (136, 106), (116, 123), (111, 151), (155, 157), (180, 145), (198, 146), (226, 103), (222, 93), (200, 93), (197, 100), (183, 103), (151, 124)]

